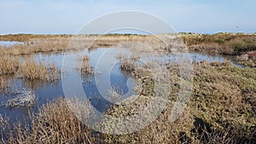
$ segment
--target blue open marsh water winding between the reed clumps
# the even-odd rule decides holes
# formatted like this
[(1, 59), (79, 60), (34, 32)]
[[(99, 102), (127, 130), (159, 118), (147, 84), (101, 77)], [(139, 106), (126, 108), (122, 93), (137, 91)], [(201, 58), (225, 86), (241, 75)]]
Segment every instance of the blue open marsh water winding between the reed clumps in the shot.
[[(70, 68), (71, 80), (68, 80), (69, 87), (71, 89), (76, 89), (78, 85), (82, 86), (83, 91), (77, 94), (86, 95), (90, 99), (91, 105), (96, 107), (100, 112), (108, 111), (108, 108), (113, 106), (114, 103), (118, 101), (123, 101), (130, 95), (136, 95), (133, 88), (137, 85), (135, 79), (131, 78), (129, 75), (125, 75), (119, 70), (119, 60), (116, 59), (116, 54), (107, 48), (94, 49), (87, 53), (90, 57), (90, 65), (95, 67), (94, 75), (82, 75), (77, 67), (79, 66), (79, 58), (82, 58), (84, 51), (73, 51), (68, 52), (66, 56), (64, 53), (44, 53), (33, 55), (36, 60), (43, 60), (44, 62), (53, 62), (58, 68), (63, 66), (63, 58), (71, 58), (70, 63), (73, 65), (68, 65)], [(221, 61), (230, 60), (235, 66), (240, 66), (236, 63), (235, 56), (226, 55), (210, 55), (206, 53), (185, 53), (185, 56), (189, 56), (191, 61), (201, 61), (207, 60), (211, 61)], [(159, 59), (159, 58), (158, 58)], [(175, 60), (173, 55), (162, 55), (161, 59), (164, 60)], [(77, 79), (77, 81), (73, 80)], [(10, 78), (9, 84), (14, 84), (15, 89), (32, 89), (37, 97), (37, 103), (33, 107), (0, 107), (0, 114), (15, 122), (20, 119), (26, 119), (28, 117), (28, 112), (31, 110), (33, 112), (38, 112), (38, 107), (48, 101), (52, 101), (59, 96), (64, 96), (62, 89), (62, 80), (59, 79), (55, 83), (42, 83), (38, 81), (26, 81), (19, 78)], [(120, 95), (118, 98), (112, 97), (109, 91), (113, 91)], [(9, 94), (1, 94), (0, 102), (9, 100), (14, 97), (13, 89), (9, 88)]]

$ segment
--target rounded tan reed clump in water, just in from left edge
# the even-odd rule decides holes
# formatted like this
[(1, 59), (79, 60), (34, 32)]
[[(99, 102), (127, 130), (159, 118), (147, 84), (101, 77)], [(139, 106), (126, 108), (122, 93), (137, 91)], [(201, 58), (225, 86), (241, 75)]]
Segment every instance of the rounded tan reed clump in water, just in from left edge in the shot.
[(27, 58), (19, 66), (19, 76), (20, 78), (26, 78), (28, 80), (46, 80), (55, 81), (59, 75), (59, 70), (54, 64), (45, 65), (43, 62), (32, 58)]

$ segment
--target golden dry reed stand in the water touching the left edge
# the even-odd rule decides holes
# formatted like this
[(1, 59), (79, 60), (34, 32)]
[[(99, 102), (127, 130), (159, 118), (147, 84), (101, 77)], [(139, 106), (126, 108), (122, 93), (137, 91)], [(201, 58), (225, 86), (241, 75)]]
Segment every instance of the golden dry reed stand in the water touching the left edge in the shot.
[(22, 60), (19, 56), (0, 56), (0, 89), (8, 88), (9, 78), (24, 78), (26, 80), (56, 81), (59, 70), (53, 63), (37, 62), (28, 57)]

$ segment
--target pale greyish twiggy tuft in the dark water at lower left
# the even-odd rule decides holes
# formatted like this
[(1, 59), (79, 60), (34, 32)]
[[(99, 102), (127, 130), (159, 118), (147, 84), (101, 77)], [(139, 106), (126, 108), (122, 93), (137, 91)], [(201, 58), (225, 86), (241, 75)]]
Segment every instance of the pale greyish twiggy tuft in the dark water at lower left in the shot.
[(4, 107), (32, 107), (36, 103), (36, 95), (32, 89), (21, 89), (17, 96), (5, 102)]

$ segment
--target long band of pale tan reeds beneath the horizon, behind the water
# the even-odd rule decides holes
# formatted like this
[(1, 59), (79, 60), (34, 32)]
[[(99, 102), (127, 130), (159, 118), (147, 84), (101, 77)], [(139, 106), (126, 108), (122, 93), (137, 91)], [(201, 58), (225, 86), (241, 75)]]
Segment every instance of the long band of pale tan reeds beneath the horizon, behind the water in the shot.
[[(40, 52), (84, 48), (108, 48), (124, 42), (143, 43), (147, 47), (150, 47), (151, 50), (170, 50), (174, 45), (180, 48), (184, 47), (182, 40), (172, 35), (13, 35), (13, 37), (12, 35), (8, 35), (0, 36), (0, 39), (25, 42), (25, 44), (18, 44), (11, 47), (0, 46), (0, 55), (28, 55)], [(160, 39), (164, 39), (166, 43), (163, 43)]]

